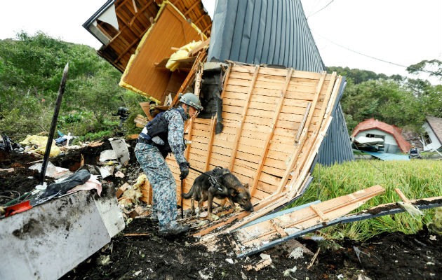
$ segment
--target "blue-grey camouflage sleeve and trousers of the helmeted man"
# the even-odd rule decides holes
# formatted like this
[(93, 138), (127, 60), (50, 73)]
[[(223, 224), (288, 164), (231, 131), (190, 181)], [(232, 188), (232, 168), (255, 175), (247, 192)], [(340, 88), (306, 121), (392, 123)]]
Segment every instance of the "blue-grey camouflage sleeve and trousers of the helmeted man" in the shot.
[[(181, 107), (163, 113), (168, 123), (168, 143), (178, 165), (187, 162), (184, 154), (184, 121), (187, 120), (185, 110)], [(138, 143), (135, 155), (152, 184), (152, 215), (158, 216), (160, 230), (174, 227), (177, 217), (177, 193), (175, 179), (164, 160), (159, 148), (149, 144)]]

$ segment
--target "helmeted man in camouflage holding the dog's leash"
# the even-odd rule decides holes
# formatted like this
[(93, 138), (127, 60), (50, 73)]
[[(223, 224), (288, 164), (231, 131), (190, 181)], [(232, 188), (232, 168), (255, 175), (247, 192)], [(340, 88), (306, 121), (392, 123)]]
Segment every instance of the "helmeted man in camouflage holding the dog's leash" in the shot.
[(178, 108), (159, 113), (142, 130), (135, 146), (135, 156), (152, 185), (152, 219), (158, 218), (160, 235), (179, 235), (189, 230), (178, 225), (176, 184), (166, 163), (172, 152), (180, 166), (180, 179), (189, 174), (189, 162), (184, 151), (185, 120), (196, 115), (203, 107), (192, 92), (180, 97)]

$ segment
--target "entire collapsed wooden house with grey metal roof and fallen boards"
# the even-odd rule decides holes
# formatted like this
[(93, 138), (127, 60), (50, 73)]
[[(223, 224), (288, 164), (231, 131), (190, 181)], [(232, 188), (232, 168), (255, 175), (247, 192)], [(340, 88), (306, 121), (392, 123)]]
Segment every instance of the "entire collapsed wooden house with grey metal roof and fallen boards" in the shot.
[[(235, 253), (246, 256), (312, 230), (403, 211), (344, 216), (383, 193), (380, 186), (279, 211), (308, 188), (316, 162), (354, 160), (339, 104), (345, 78), (326, 73), (299, 0), (217, 0), (215, 18), (200, 0), (109, 0), (83, 25), (102, 41), (99, 55), (124, 72), (120, 85), (156, 109), (176, 104), (180, 92), (199, 95), (204, 110), (185, 127), (187, 160), (201, 172), (226, 167), (249, 184), (253, 213), (220, 210), (210, 224), (187, 219), (194, 235), (214, 248), (215, 237), (230, 232)], [(192, 41), (199, 43), (186, 57), (171, 58)], [(151, 104), (140, 105), (147, 118), (135, 122), (142, 127)], [(173, 155), (166, 162), (178, 204), (188, 209), (181, 194), (199, 174), (181, 182)], [(142, 193), (152, 203), (152, 188)], [(442, 199), (415, 205), (438, 207)]]

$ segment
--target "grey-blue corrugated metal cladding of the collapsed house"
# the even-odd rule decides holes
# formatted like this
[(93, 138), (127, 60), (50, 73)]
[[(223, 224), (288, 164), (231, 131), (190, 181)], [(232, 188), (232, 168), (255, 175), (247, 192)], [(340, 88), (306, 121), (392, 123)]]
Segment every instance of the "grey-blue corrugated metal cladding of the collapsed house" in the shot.
[[(208, 61), (277, 64), (297, 70), (326, 69), (300, 0), (217, 0)], [(344, 88), (340, 90), (342, 95)], [(338, 97), (337, 100), (340, 100)], [(318, 162), (354, 160), (340, 104), (319, 150)]]

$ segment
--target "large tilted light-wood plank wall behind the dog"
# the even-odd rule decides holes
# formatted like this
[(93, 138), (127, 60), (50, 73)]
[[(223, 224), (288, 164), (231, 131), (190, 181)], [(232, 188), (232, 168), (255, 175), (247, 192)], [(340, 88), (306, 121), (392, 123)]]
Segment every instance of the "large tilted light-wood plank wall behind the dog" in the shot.
[[(215, 118), (196, 118), (186, 155), (196, 169), (226, 167), (241, 183), (249, 183), (255, 212), (229, 214), (201, 228), (196, 236), (210, 238), (235, 230), (300, 195), (326, 137), (340, 83), (336, 73), (230, 62), (221, 94), (224, 129), (214, 134)], [(175, 159), (166, 161), (180, 186)], [(196, 176), (199, 174), (190, 172), (185, 192)], [(190, 207), (189, 200), (184, 205)], [(211, 233), (215, 229), (220, 230)]]

